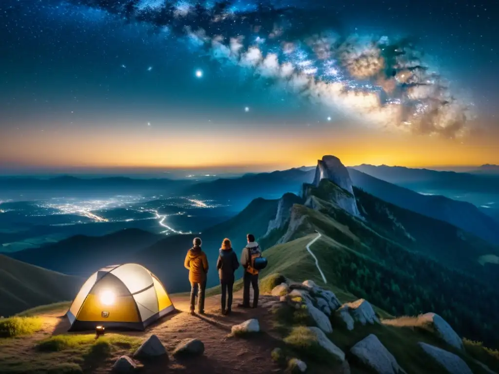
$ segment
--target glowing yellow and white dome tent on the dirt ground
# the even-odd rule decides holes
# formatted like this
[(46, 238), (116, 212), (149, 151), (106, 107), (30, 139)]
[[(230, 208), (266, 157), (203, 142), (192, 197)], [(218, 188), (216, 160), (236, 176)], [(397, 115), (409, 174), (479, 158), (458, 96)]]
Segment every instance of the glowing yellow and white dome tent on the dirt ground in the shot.
[(113, 265), (88, 278), (66, 313), (69, 331), (108, 328), (144, 330), (174, 310), (158, 278), (138, 264)]

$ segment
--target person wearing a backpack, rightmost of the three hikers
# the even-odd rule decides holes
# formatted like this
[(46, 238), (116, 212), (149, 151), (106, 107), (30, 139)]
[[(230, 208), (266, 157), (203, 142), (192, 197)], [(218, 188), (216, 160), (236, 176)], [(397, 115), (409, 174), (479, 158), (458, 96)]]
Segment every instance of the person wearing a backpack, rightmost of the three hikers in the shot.
[(253, 234), (246, 236), (248, 244), (241, 254), (241, 265), (245, 268), (243, 275), (243, 303), (239, 304), (242, 308), (250, 308), (250, 285), (253, 287), (253, 308), (258, 306), (258, 270), (254, 268), (254, 259), (261, 257), (261, 250), (258, 243), (254, 240)]

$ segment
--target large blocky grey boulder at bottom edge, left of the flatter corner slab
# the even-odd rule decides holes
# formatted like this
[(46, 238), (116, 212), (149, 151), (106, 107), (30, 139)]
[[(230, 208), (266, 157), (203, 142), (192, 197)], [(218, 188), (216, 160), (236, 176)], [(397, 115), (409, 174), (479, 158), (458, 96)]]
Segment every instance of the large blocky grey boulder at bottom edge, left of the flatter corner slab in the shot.
[(368, 335), (355, 344), (350, 353), (366, 367), (380, 374), (405, 373), (395, 357), (381, 344), (376, 335)]

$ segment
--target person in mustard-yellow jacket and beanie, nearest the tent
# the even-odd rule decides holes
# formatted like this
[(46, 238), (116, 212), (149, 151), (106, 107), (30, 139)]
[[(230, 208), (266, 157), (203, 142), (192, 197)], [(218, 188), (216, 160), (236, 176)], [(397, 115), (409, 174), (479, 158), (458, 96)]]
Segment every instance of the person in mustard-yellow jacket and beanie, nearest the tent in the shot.
[(193, 247), (189, 249), (184, 266), (189, 269), (191, 282), (191, 314), (194, 314), (196, 293), (198, 294), (198, 313), (205, 313), (206, 275), (208, 273), (208, 259), (201, 249), (201, 239), (194, 238)]

